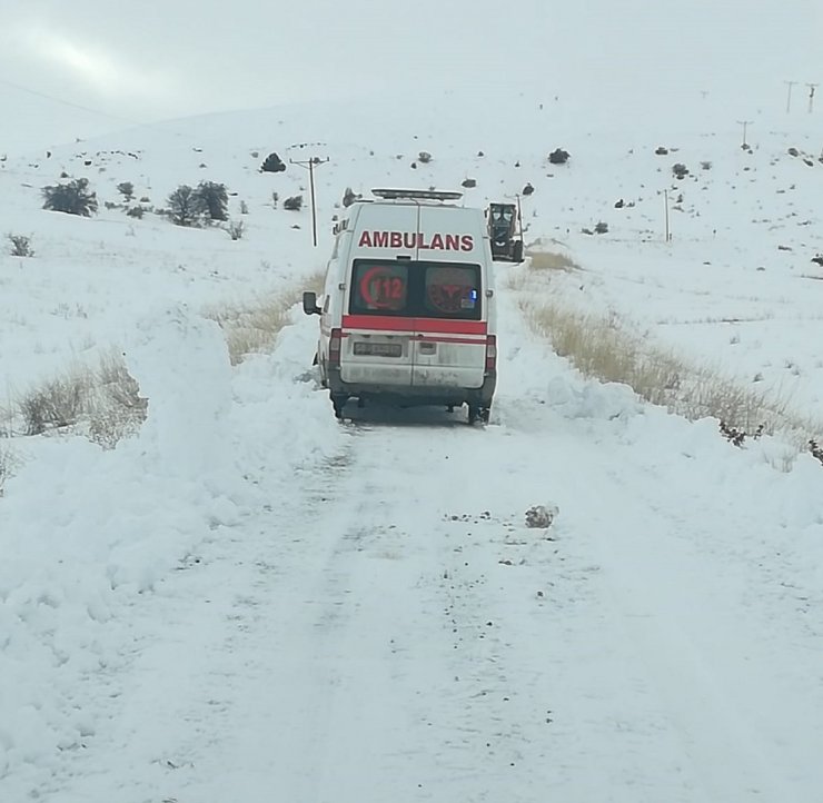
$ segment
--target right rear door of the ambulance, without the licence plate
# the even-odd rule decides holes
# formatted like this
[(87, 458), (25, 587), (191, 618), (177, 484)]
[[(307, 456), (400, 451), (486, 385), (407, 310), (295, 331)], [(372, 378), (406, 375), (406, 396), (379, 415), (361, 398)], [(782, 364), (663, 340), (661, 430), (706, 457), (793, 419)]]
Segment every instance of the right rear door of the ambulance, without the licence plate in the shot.
[(420, 206), (412, 383), (478, 388), (486, 373), (488, 244), (476, 209)]

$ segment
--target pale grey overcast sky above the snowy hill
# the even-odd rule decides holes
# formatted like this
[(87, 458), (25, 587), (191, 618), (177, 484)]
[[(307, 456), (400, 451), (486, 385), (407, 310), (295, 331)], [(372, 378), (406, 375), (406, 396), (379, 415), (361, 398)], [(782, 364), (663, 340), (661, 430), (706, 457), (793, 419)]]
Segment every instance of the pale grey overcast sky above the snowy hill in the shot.
[(0, 0), (0, 99), (26, 90), (133, 122), (393, 91), (401, 102), (410, 88), (436, 97), (469, 83), (525, 81), (597, 102), (598, 92), (735, 82), (780, 95), (784, 80), (823, 79), (820, 0)]

